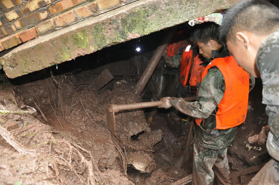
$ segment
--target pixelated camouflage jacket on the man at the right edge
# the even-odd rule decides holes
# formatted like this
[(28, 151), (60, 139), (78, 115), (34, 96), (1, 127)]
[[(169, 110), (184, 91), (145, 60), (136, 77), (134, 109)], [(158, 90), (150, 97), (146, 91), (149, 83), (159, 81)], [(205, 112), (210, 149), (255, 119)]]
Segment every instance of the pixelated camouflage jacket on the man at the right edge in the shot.
[(263, 101), (269, 117), (268, 153), (279, 161), (279, 29), (259, 47), (257, 67), (263, 81)]

